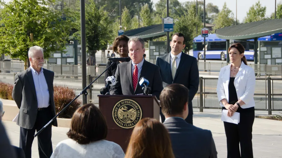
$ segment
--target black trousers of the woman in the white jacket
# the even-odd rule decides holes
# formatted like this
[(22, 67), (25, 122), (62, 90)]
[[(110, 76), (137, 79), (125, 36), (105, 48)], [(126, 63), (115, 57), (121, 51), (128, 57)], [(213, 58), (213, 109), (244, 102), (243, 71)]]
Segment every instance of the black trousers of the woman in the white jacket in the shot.
[(240, 113), (240, 123), (223, 122), (227, 139), (227, 158), (253, 158), (252, 131), (255, 109), (239, 107), (237, 112)]

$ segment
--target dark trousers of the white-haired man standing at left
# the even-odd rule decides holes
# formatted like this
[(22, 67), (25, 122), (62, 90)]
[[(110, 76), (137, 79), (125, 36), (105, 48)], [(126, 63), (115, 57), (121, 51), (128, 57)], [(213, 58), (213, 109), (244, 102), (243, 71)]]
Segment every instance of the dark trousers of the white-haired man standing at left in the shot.
[[(34, 139), (35, 130), (38, 132), (44, 127), (51, 118), (50, 106), (42, 111), (37, 112), (35, 124), (32, 129), (20, 129), (20, 148), (25, 152), (25, 158), (31, 158), (31, 146)], [(53, 153), (52, 148), (52, 125), (49, 124), (38, 136), (38, 152), (40, 158), (50, 158)]]

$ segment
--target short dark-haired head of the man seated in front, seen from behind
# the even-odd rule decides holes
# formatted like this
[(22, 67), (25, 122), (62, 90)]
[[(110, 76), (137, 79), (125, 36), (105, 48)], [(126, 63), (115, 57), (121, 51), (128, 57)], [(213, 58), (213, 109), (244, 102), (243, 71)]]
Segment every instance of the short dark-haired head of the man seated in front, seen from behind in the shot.
[(160, 94), (162, 113), (168, 117), (188, 116), (188, 88), (182, 84), (170, 84)]

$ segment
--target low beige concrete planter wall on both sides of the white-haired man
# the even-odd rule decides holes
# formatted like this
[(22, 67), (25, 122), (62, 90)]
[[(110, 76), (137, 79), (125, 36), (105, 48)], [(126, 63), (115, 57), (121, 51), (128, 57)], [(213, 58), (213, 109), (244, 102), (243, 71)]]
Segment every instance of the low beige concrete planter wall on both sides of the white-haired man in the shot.
[[(3, 102), (3, 110), (5, 111), (5, 114), (2, 118), (2, 120), (7, 121), (13, 121), (13, 119), (17, 116), (19, 113), (19, 108), (17, 107), (17, 104), (13, 100), (6, 100), (6, 99), (0, 99)], [(65, 118), (57, 118), (58, 121), (58, 127), (70, 127), (71, 119), (65, 119)]]

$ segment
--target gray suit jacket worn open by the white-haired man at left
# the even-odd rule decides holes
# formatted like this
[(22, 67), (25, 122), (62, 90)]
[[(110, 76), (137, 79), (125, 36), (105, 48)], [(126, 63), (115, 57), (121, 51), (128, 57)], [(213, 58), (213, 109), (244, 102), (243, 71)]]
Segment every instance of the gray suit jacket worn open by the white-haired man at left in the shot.
[[(52, 117), (55, 117), (54, 72), (43, 69), (43, 73), (48, 85)], [(32, 129), (36, 121), (38, 106), (32, 70), (30, 68), (15, 75), (12, 97), (20, 109), (17, 125), (26, 129)], [(52, 125), (58, 126), (57, 119), (52, 122)]]

